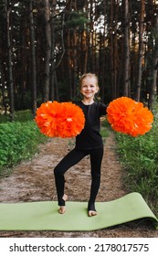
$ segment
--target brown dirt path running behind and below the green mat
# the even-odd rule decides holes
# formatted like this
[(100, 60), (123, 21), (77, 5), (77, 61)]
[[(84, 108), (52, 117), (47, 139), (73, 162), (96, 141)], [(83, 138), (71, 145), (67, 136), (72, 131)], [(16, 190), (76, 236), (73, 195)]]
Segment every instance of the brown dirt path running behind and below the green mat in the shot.
[[(39, 154), (32, 161), (16, 166), (14, 173), (0, 180), (0, 202), (28, 202), (39, 200), (57, 200), (53, 169), (58, 161), (73, 147), (73, 140), (50, 139), (40, 145)], [(66, 193), (69, 200), (88, 201), (90, 189), (90, 159), (83, 159), (72, 167), (66, 175)], [(109, 201), (127, 194), (122, 181), (121, 165), (115, 153), (114, 135), (105, 140), (105, 152), (102, 162), (102, 176), (98, 201)], [(89, 182), (88, 182), (89, 181)], [(151, 223), (144, 220), (133, 221), (109, 229), (90, 232), (58, 231), (0, 231), (0, 237), (158, 237)]]

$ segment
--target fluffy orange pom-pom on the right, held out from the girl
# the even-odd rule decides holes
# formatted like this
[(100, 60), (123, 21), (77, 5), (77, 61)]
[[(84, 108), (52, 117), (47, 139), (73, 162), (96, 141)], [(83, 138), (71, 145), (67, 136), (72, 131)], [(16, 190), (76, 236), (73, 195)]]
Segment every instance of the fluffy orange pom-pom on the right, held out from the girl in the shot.
[(132, 136), (143, 135), (152, 128), (153, 113), (141, 102), (128, 97), (121, 97), (111, 101), (107, 108), (108, 121), (116, 132), (127, 133)]

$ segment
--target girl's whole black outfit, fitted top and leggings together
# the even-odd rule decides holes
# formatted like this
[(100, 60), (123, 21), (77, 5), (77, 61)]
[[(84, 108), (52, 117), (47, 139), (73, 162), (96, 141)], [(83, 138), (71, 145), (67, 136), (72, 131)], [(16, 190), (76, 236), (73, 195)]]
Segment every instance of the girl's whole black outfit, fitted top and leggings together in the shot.
[(93, 102), (85, 105), (82, 101), (75, 101), (84, 112), (86, 123), (84, 129), (76, 137), (75, 148), (68, 153), (55, 167), (55, 181), (58, 193), (58, 205), (65, 206), (64, 195), (65, 172), (86, 155), (90, 155), (91, 188), (89, 210), (95, 210), (95, 199), (100, 188), (100, 165), (103, 155), (103, 143), (100, 135), (100, 116), (106, 114), (106, 105)]

